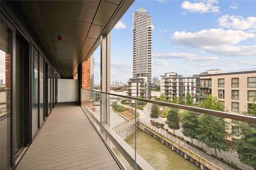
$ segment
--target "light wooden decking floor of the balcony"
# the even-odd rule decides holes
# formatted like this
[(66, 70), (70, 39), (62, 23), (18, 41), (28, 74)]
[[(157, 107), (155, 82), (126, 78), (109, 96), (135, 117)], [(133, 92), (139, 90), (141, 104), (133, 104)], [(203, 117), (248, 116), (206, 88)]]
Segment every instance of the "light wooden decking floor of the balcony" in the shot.
[(53, 109), (16, 169), (119, 169), (81, 107)]

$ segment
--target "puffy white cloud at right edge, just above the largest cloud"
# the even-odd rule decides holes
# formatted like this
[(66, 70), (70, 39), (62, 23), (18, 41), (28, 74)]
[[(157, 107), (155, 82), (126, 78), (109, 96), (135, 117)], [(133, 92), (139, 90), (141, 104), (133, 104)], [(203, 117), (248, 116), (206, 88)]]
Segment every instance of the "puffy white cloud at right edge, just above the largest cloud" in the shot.
[(233, 28), (233, 29), (256, 29), (256, 17), (250, 16), (242, 18), (242, 16), (236, 15), (222, 15), (218, 19), (218, 24), (221, 27)]

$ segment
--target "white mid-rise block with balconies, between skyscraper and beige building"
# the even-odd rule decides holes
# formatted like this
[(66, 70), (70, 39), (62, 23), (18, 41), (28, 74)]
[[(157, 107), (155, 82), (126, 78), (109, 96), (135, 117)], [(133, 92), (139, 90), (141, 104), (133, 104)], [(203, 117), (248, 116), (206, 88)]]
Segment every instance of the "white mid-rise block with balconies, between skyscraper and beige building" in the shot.
[(179, 100), (185, 101), (185, 97), (189, 93), (193, 97), (193, 103), (197, 102), (200, 92), (199, 75), (184, 77), (174, 72), (164, 73), (161, 75), (161, 80), (160, 91), (161, 94), (166, 95), (167, 100), (173, 100), (177, 96)]

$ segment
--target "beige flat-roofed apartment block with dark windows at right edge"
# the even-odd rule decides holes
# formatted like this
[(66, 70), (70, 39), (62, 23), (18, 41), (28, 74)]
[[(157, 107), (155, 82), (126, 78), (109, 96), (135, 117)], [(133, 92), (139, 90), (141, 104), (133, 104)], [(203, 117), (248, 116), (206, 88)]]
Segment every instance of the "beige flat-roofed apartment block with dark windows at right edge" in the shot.
[[(233, 113), (250, 112), (256, 99), (256, 70), (236, 71), (229, 73), (200, 74), (200, 96), (205, 98), (209, 94), (217, 96), (222, 102), (225, 111)], [(228, 120), (229, 121), (229, 120)], [(231, 141), (239, 138), (239, 130), (232, 125), (230, 128)]]

